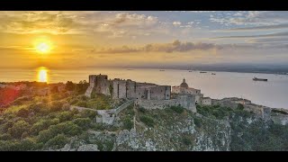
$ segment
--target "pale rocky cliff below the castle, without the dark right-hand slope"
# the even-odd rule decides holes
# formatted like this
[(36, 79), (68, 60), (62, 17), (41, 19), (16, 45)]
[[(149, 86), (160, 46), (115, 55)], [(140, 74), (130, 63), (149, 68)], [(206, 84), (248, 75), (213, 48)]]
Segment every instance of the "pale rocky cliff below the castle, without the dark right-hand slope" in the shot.
[[(228, 121), (213, 120), (186, 110), (181, 113), (171, 109), (134, 111), (121, 112), (113, 126), (106, 125), (105, 128), (103, 125), (102, 130), (90, 130), (85, 140), (80, 137), (58, 150), (230, 150), (231, 128)], [(144, 120), (144, 117), (150, 121)], [(134, 122), (131, 129), (123, 128), (124, 119)]]

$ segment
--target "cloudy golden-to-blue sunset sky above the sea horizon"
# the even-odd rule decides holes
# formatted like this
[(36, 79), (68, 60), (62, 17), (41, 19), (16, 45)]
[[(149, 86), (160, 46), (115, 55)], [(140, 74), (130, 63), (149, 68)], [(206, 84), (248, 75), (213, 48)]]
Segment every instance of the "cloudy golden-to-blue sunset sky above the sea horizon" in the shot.
[(0, 22), (2, 68), (288, 63), (281, 11), (0, 11)]

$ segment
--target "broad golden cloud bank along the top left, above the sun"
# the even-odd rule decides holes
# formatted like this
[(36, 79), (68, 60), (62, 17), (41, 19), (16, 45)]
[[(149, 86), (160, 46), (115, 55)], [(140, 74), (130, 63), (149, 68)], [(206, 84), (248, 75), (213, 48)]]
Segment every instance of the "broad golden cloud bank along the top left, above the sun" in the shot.
[(0, 12), (0, 30), (11, 33), (75, 34), (101, 32), (118, 37), (121, 32), (146, 29), (157, 17), (112, 12)]

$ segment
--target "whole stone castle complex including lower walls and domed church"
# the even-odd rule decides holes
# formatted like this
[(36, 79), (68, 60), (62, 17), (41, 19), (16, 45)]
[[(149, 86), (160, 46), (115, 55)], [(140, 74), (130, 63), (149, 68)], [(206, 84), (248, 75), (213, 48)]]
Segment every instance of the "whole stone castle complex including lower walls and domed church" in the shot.
[(134, 104), (146, 109), (164, 109), (167, 106), (181, 105), (196, 112), (196, 103), (211, 104), (211, 98), (204, 98), (199, 89), (189, 87), (185, 80), (180, 86), (173, 86), (171, 89), (170, 85), (139, 83), (120, 78), (108, 79), (107, 75), (100, 74), (90, 75), (89, 84), (85, 92), (88, 97), (94, 93), (109, 95), (113, 99), (135, 100)]

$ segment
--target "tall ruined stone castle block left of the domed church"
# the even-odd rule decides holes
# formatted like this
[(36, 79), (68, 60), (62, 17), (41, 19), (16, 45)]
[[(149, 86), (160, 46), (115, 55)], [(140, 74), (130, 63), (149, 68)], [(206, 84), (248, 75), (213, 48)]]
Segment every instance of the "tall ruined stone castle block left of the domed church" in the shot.
[(90, 75), (89, 87), (85, 95), (105, 94), (113, 99), (146, 99), (146, 100), (169, 100), (171, 97), (170, 85), (155, 85), (150, 83), (137, 83), (130, 79), (114, 78), (108, 80), (106, 75)]

